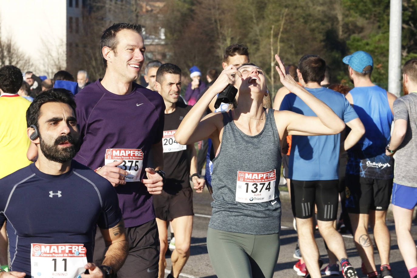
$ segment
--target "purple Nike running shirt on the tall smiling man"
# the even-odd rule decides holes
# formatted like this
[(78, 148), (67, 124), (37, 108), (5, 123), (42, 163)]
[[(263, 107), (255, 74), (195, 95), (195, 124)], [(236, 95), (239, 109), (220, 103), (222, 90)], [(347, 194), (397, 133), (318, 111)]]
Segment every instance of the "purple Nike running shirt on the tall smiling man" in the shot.
[[(149, 151), (162, 140), (165, 104), (161, 95), (136, 83), (131, 93), (116, 95), (97, 80), (75, 95), (75, 102), (81, 147), (74, 159), (96, 169), (105, 164), (107, 149), (140, 149), (140, 179), (145, 178)], [(152, 196), (143, 183), (127, 182), (118, 185), (116, 192), (126, 227), (155, 219)]]

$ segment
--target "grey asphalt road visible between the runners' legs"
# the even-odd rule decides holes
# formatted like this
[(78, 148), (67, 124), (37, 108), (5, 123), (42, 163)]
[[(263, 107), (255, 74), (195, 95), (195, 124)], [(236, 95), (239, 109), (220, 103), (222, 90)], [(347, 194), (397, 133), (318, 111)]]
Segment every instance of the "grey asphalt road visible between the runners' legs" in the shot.
[[(215, 278), (217, 277), (211, 267), (210, 259), (207, 253), (206, 247), (206, 233), (208, 222), (211, 215), (212, 201), (210, 193), (205, 190), (201, 194), (194, 193), (193, 205), (194, 205), (194, 223), (193, 233), (191, 238), (191, 255), (188, 262), (183, 268), (180, 277), (188, 278)], [(293, 270), (293, 265), (296, 263), (296, 259), (293, 258), (294, 248), (297, 242), (296, 231), (294, 230), (292, 221), (293, 216), (291, 212), (291, 203), (288, 197), (288, 193), (281, 193), (281, 206), (282, 206), (282, 218), (281, 218), (281, 250), (279, 253), (278, 262), (275, 266), (274, 278), (296, 278), (300, 277)], [(394, 220), (392, 214), (387, 215), (387, 226), (391, 234), (391, 253), (390, 253), (390, 265), (394, 278), (408, 278), (408, 271), (405, 267), (402, 256), (399, 252), (397, 245), (397, 236), (395, 234)], [(412, 226), (412, 235), (415, 238), (417, 236), (417, 226)], [(359, 277), (366, 277), (362, 275), (361, 259), (353, 243), (353, 238), (350, 234), (344, 234), (344, 243), (347, 249), (347, 254), (352, 265), (356, 268)], [(372, 235), (371, 235), (372, 237)], [(320, 250), (320, 258), (324, 261), (324, 265), (328, 263), (328, 257), (324, 248), (324, 243), (319, 233), (316, 233), (316, 242)], [(375, 263), (379, 268), (379, 256), (377, 254), (377, 248), (375, 250)], [(228, 267), (225, 265), (225, 267)], [(167, 257), (166, 273), (171, 270), (171, 261)], [(330, 276), (329, 276), (330, 277)], [(332, 276), (337, 277), (337, 276)], [(340, 275), (343, 277), (343, 275)]]

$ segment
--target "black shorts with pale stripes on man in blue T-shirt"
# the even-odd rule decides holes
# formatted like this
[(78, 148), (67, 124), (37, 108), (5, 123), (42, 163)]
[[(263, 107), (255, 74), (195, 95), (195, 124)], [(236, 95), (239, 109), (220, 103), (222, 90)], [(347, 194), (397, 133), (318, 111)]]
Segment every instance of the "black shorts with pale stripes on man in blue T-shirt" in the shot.
[(339, 180), (291, 180), (291, 207), (294, 217), (313, 216), (317, 205), (317, 219), (337, 219), (339, 206)]

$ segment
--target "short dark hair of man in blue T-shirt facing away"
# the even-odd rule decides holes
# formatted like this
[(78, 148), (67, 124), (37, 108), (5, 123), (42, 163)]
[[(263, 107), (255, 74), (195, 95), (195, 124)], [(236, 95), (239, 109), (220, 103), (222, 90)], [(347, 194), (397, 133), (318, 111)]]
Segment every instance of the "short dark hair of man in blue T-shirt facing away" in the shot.
[(304, 55), (298, 63), (298, 69), (305, 83), (320, 84), (326, 71), (326, 62), (318, 55)]

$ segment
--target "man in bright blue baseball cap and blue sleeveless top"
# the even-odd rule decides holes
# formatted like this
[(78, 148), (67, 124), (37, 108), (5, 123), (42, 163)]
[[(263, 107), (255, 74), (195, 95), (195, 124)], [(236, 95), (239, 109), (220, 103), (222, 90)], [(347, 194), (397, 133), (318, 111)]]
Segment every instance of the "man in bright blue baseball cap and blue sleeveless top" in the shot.
[(397, 98), (371, 81), (374, 61), (369, 53), (357, 51), (343, 58), (349, 65), (354, 87), (346, 98), (365, 126), (365, 134), (348, 150), (346, 166), (346, 208), (352, 222), (355, 245), (362, 258), (362, 271), (377, 277), (368, 223), (381, 258), (381, 277), (392, 278), (389, 266), (390, 238), (385, 216), (391, 199), (394, 161), (385, 155)]

